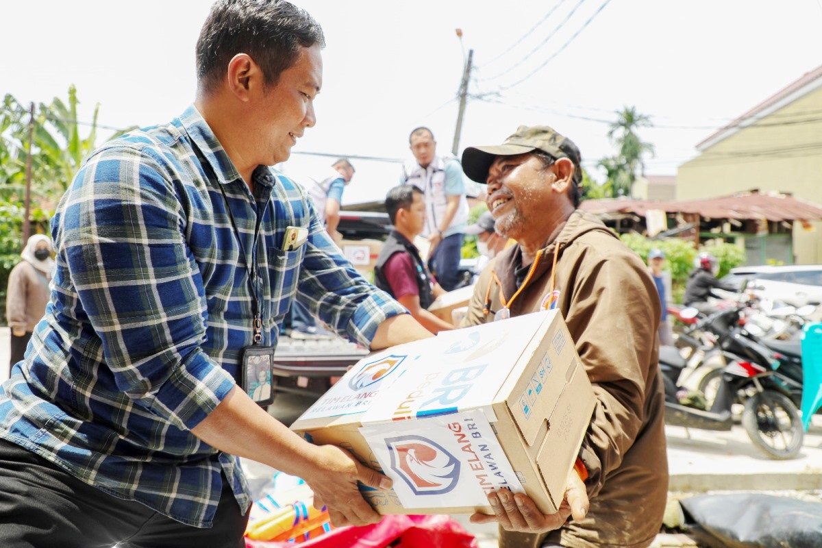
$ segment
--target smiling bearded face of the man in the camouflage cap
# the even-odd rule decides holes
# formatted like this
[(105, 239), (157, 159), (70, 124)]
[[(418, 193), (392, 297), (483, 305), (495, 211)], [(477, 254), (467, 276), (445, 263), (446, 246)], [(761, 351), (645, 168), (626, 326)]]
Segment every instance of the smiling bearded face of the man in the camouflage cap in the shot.
[(533, 154), (497, 156), (488, 169), (486, 198), (496, 232), (516, 240), (538, 237), (541, 219), (547, 219), (554, 206), (555, 180), (552, 169)]

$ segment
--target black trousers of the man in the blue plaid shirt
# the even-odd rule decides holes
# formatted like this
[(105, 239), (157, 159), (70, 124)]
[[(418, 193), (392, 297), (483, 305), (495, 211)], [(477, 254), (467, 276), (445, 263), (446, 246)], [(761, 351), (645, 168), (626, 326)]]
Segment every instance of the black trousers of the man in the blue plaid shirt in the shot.
[(214, 527), (201, 529), (104, 493), (0, 440), (3, 548), (242, 548), (247, 519), (225, 477)]

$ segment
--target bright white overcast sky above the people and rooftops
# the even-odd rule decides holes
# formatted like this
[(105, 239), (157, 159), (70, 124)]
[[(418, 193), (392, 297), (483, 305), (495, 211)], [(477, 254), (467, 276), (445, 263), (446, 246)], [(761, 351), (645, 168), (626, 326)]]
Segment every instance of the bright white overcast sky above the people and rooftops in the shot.
[[(646, 173), (673, 175), (718, 127), (822, 64), (820, 0), (296, 3), (321, 23), (327, 45), (317, 124), (294, 153), (404, 159), (420, 125), (449, 151), (473, 49), (460, 151), (547, 124), (575, 140), (601, 178), (597, 161), (615, 153), (607, 122), (635, 106), (656, 125), (640, 132), (656, 149)], [(3, 2), (0, 94), (48, 102), (73, 83), (81, 120), (99, 103), (104, 126), (167, 122), (193, 100), (194, 45), (210, 4)], [(354, 164), (344, 204), (379, 200), (396, 183), (396, 164)]]

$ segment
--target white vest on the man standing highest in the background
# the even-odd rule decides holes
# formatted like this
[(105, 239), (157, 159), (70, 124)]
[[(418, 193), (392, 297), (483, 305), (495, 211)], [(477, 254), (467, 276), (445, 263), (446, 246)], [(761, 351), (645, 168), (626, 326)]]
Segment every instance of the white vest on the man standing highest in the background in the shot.
[[(423, 236), (427, 237), (431, 233), (439, 230), (440, 220), (446, 215), (446, 163), (458, 161), (455, 157), (443, 159), (434, 156), (427, 168), (423, 168), (416, 160), (411, 160), (403, 164), (405, 182), (412, 184), (423, 191), (425, 195), (425, 228)], [(468, 222), (468, 200), (465, 194), (459, 196), (459, 207), (451, 219), (449, 228), (457, 224)]]

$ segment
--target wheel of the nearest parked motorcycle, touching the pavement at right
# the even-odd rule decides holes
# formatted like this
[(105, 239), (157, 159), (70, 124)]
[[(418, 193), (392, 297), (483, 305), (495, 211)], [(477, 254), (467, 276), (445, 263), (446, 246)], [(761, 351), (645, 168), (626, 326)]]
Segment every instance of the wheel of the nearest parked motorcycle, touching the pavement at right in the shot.
[(745, 402), (742, 426), (756, 448), (770, 458), (796, 457), (805, 438), (797, 406), (773, 390), (757, 392)]

